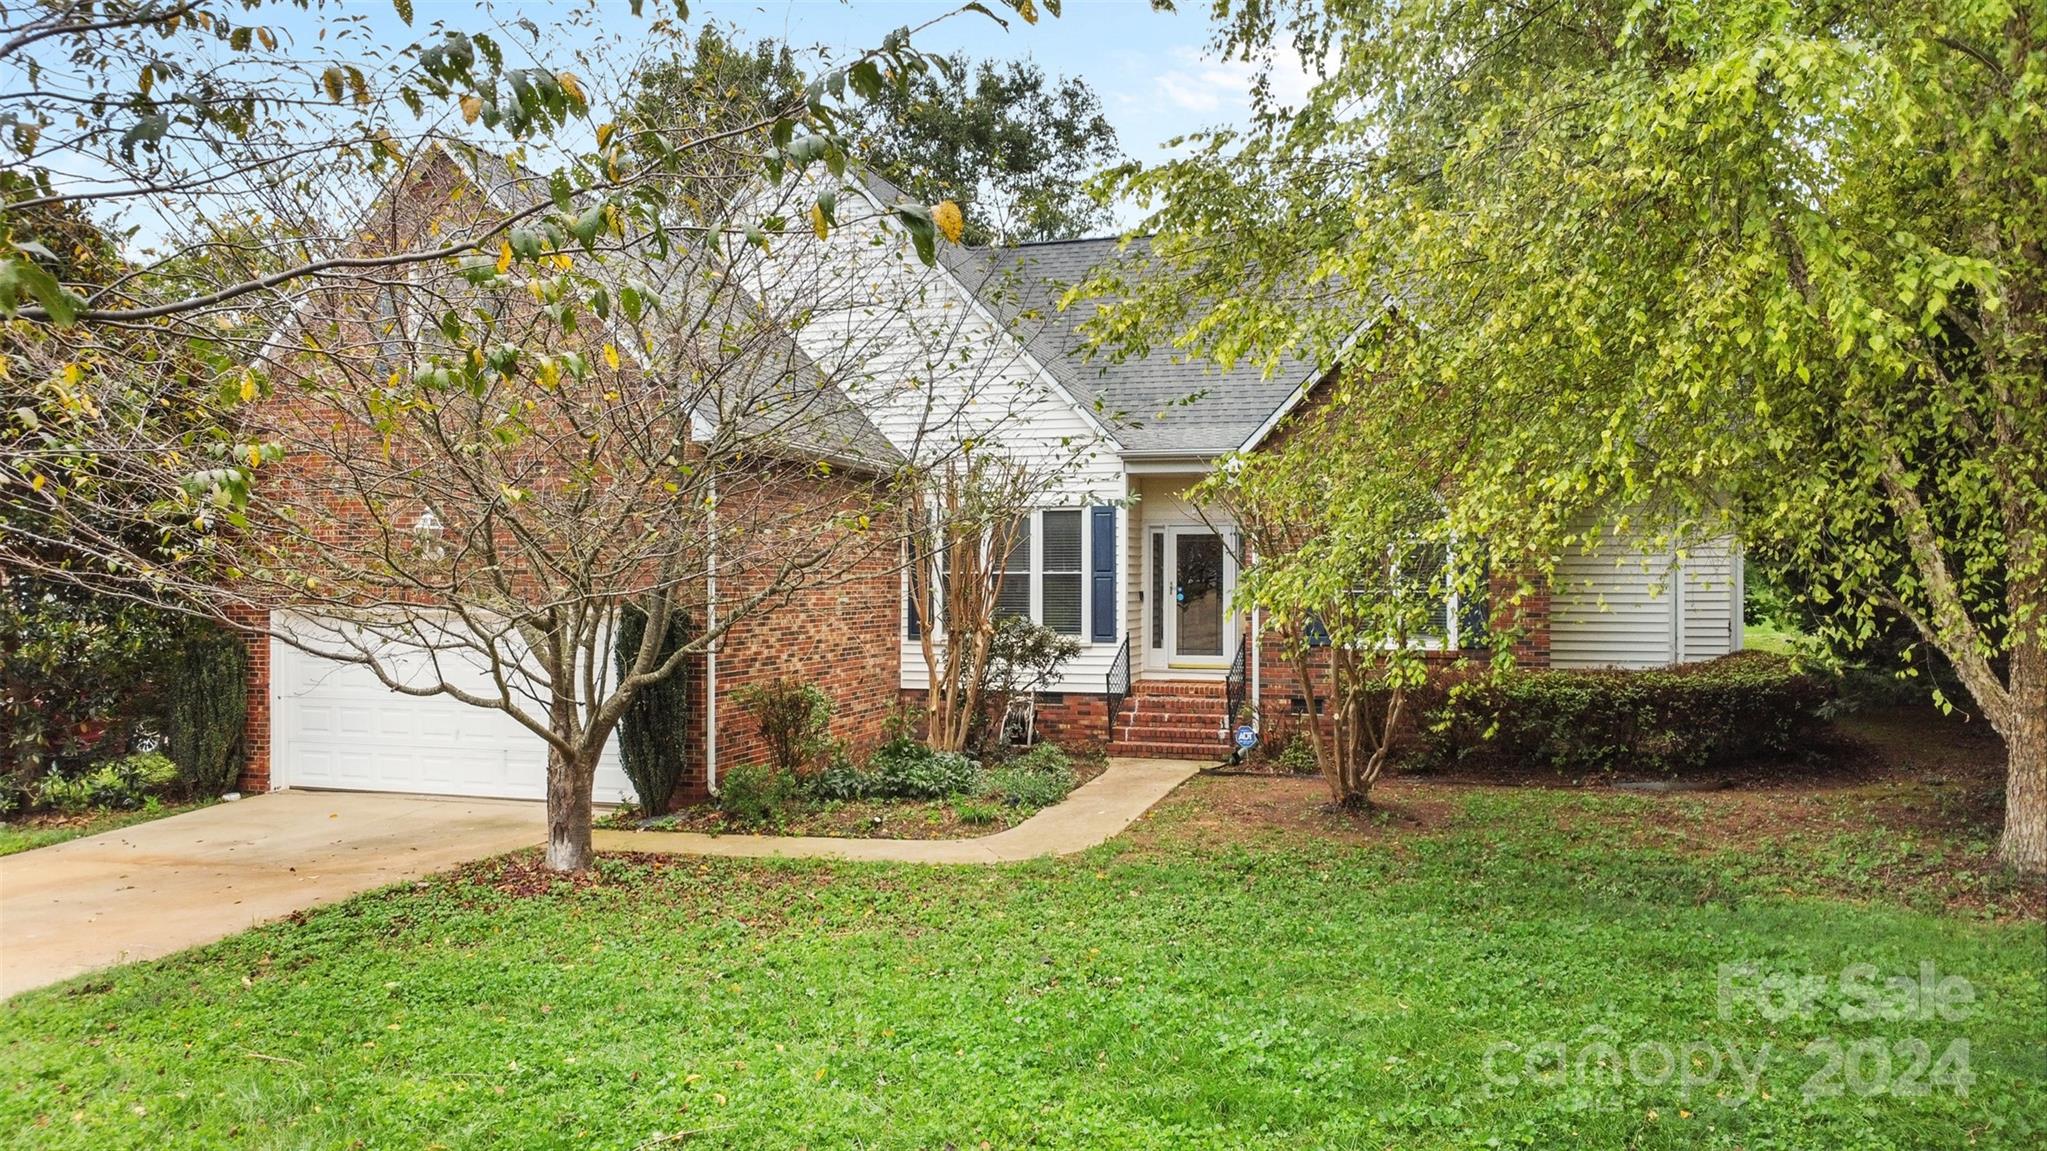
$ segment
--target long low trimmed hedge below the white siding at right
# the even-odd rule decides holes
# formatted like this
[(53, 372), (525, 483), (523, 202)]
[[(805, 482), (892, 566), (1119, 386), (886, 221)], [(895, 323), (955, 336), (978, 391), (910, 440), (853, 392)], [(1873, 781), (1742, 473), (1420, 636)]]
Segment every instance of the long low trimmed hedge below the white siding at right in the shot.
[(1646, 672), (1511, 672), (1425, 711), (1421, 766), (1685, 772), (1797, 752), (1830, 686), (1742, 651)]

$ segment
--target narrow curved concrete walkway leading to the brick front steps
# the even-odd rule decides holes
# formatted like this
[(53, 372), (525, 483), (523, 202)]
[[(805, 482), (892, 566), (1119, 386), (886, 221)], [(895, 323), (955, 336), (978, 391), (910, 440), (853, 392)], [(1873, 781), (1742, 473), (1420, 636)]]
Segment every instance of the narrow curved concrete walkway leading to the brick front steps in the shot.
[(841, 840), (829, 836), (706, 836), (702, 832), (598, 832), (600, 852), (727, 858), (895, 862), (1017, 862), (1093, 848), (1206, 768), (1193, 760), (1109, 760), (1109, 768), (1030, 819), (976, 840)]

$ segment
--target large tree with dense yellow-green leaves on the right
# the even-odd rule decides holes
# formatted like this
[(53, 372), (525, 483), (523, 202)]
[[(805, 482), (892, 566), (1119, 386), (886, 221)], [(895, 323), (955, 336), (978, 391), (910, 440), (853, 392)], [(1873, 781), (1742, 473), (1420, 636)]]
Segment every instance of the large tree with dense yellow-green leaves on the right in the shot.
[(1830, 645), (1908, 621), (2004, 737), (2000, 858), (2047, 870), (2039, 6), (1218, 12), (1316, 82), (1112, 180), (1193, 281), (1099, 336), (1398, 365), (1376, 403), (1494, 543), (1736, 530)]

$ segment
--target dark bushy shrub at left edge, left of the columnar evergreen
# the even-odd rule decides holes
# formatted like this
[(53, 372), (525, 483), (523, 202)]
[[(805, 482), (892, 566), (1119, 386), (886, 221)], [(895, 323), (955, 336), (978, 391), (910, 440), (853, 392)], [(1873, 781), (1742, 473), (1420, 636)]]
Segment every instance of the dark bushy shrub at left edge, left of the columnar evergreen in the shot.
[(180, 623), (133, 600), (0, 575), (0, 764), (18, 780), (123, 754), (158, 719)]

